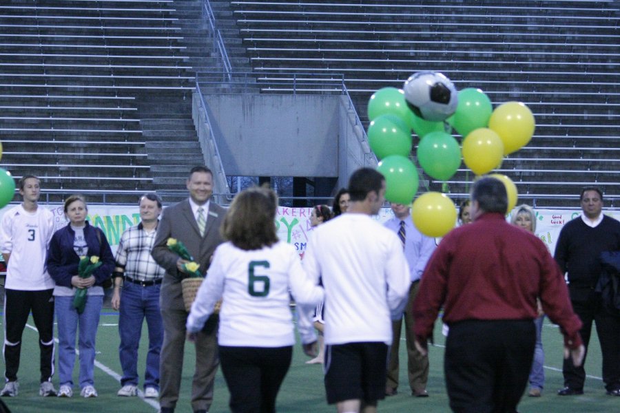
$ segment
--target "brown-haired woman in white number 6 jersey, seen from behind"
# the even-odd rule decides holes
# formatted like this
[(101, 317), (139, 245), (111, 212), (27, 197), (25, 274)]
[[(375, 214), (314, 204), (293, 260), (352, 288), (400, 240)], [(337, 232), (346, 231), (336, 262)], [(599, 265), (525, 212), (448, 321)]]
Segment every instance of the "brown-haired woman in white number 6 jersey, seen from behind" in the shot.
[(192, 341), (223, 299), (218, 343), (234, 413), (276, 411), (295, 343), (289, 290), (300, 304), (323, 299), (293, 246), (278, 240), (276, 207), (276, 194), (266, 188), (235, 197), (221, 229), (227, 242), (216, 249), (187, 317)]

